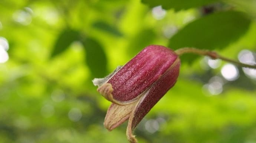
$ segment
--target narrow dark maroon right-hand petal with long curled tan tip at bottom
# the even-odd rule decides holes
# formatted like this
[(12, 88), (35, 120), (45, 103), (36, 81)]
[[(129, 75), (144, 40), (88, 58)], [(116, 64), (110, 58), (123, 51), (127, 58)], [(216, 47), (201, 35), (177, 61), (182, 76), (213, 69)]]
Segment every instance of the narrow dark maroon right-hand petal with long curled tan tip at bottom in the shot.
[(180, 59), (177, 59), (173, 65), (160, 77), (141, 97), (134, 107), (129, 117), (126, 135), (131, 143), (136, 143), (132, 131), (140, 123), (142, 118), (150, 109), (163, 97), (163, 95), (176, 83), (180, 67)]

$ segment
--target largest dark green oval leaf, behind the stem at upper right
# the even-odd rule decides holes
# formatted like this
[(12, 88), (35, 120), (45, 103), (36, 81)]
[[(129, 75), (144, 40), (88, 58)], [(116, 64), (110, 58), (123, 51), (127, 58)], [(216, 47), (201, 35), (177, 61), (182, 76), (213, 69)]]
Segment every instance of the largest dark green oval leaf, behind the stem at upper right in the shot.
[[(196, 47), (199, 49), (221, 49), (236, 41), (249, 28), (250, 20), (240, 12), (224, 11), (202, 17), (178, 31), (169, 41), (168, 47)], [(192, 55), (183, 60), (192, 62)], [(185, 59), (186, 58), (186, 59)]]

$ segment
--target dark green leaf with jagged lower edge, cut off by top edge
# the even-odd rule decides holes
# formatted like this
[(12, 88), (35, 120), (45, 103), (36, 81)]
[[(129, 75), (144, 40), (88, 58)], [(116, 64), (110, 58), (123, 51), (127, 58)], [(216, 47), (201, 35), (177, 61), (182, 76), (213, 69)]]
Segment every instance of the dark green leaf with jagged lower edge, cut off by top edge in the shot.
[(141, 0), (142, 3), (148, 4), (150, 7), (162, 6), (164, 9), (174, 8), (174, 10), (183, 10), (193, 7), (200, 7), (220, 0)]

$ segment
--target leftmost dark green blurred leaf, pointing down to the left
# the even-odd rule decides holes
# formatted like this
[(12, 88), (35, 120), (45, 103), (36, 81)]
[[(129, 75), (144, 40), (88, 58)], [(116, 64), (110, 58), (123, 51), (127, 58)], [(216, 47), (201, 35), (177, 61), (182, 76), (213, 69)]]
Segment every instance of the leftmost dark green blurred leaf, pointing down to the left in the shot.
[(55, 41), (51, 57), (55, 57), (60, 53), (64, 52), (66, 49), (68, 49), (69, 45), (72, 42), (79, 39), (79, 35), (79, 31), (69, 28), (63, 29)]

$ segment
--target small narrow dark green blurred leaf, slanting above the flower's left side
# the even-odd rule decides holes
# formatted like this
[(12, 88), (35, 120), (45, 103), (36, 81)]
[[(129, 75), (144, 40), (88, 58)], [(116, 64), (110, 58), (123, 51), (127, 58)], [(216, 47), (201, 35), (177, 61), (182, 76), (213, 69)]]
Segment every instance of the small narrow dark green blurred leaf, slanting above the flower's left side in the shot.
[(96, 21), (92, 26), (115, 36), (123, 36), (116, 27), (109, 25), (104, 21)]

